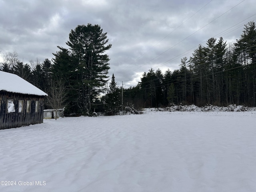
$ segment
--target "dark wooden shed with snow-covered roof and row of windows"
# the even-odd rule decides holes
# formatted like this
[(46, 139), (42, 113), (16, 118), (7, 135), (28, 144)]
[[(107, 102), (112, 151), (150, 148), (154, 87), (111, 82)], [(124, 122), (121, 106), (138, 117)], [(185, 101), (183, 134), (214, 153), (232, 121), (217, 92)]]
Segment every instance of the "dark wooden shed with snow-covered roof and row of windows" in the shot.
[(42, 123), (45, 96), (21, 77), (0, 71), (0, 129)]

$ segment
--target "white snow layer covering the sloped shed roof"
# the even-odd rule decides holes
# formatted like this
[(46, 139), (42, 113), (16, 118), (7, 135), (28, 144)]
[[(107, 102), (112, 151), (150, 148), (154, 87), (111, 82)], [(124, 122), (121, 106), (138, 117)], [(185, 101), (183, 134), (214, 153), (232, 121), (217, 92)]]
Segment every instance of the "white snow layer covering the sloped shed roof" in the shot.
[(0, 71), (0, 91), (47, 96), (45, 92), (18, 75)]

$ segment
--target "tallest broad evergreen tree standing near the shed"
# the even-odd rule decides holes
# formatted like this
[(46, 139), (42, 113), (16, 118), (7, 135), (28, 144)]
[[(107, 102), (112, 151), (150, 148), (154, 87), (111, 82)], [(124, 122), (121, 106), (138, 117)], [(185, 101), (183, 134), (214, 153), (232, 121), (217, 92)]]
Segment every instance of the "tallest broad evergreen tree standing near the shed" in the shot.
[(70, 82), (76, 91), (76, 106), (80, 112), (91, 111), (91, 104), (98, 94), (103, 92), (109, 70), (109, 58), (104, 54), (111, 48), (107, 33), (103, 33), (99, 25), (78, 25), (69, 34), (66, 44), (70, 48), (71, 60), (74, 65), (75, 82)]

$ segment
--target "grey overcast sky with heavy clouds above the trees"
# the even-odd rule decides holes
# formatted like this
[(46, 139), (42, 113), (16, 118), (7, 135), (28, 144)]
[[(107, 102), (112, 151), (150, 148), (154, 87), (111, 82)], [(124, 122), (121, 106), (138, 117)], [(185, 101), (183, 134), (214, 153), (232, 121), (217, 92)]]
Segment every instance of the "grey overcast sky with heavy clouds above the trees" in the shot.
[(52, 59), (78, 25), (99, 24), (112, 48), (109, 76), (136, 86), (143, 72), (179, 68), (211, 37), (240, 38), (255, 0), (0, 0), (0, 51)]

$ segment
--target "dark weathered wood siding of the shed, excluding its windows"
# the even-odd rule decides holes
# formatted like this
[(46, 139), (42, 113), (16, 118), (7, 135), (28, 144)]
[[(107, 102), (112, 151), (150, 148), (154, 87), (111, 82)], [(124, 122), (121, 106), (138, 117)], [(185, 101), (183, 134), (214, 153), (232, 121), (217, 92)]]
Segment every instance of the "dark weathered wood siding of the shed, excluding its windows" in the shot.
[[(8, 99), (12, 99), (15, 112), (8, 113)], [(19, 112), (19, 100), (24, 100), (23, 112)], [(26, 112), (26, 101), (31, 100), (30, 113)], [(36, 110), (36, 101), (39, 109)], [(44, 96), (0, 92), (0, 129), (16, 128), (42, 123), (44, 118)]]

